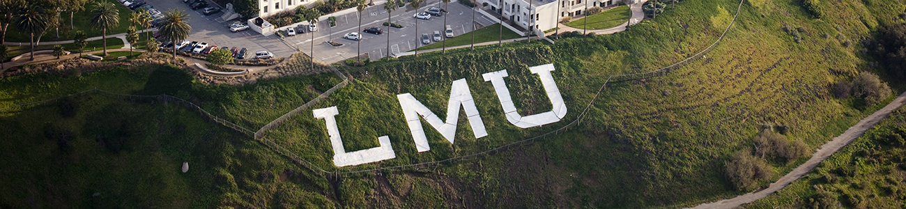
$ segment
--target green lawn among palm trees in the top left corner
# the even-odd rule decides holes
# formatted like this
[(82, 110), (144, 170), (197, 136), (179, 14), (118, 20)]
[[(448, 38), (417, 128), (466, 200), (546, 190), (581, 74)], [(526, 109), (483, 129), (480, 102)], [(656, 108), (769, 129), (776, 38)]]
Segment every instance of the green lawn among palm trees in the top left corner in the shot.
[[(116, 5), (117, 10), (120, 12), (120, 24), (116, 27), (108, 28), (107, 34), (116, 34), (116, 33), (126, 33), (129, 29), (129, 14), (132, 11), (126, 6), (120, 4), (116, 0), (91, 0), (85, 4), (85, 9), (77, 12), (72, 15), (72, 25), (75, 26), (75, 30), (70, 30), (70, 13), (60, 14), (60, 22), (63, 26), (60, 27), (60, 38), (56, 38), (56, 29), (50, 28), (47, 29), (47, 32), (44, 33), (41, 37), (42, 42), (48, 41), (68, 41), (72, 40), (72, 33), (74, 31), (82, 31), (88, 35), (88, 37), (97, 37), (101, 36), (101, 29), (95, 28), (92, 24), (89, 23), (89, 18), (91, 17), (91, 11), (94, 8), (94, 2), (104, 1), (110, 2), (113, 5)], [(140, 26), (137, 26), (138, 29), (141, 29)], [(6, 28), (6, 42), (17, 42), (17, 43), (28, 43), (29, 35), (28, 33), (20, 33), (19, 29), (15, 28), (14, 24), (10, 24)], [(37, 38), (37, 35), (35, 35)]]

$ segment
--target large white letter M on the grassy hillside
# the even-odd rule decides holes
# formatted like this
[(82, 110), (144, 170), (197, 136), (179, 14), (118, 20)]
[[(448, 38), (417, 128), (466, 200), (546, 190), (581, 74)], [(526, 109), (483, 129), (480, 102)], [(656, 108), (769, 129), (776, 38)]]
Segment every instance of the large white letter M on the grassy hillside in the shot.
[(453, 81), (447, 105), (447, 122), (441, 121), (438, 115), (435, 115), (434, 112), (425, 107), (424, 104), (421, 104), (410, 93), (397, 95), (397, 99), (400, 100), (402, 113), (406, 116), (406, 122), (409, 124), (412, 138), (415, 139), (415, 147), (419, 152), (431, 150), (428, 146), (428, 138), (425, 138), (425, 131), (421, 128), (419, 116), (425, 119), (432, 128), (440, 132), (441, 136), (447, 138), (450, 144), (453, 144), (460, 106), (466, 110), (468, 124), (472, 126), (472, 133), (475, 134), (475, 138), (487, 136), (485, 123), (478, 116), (478, 109), (475, 106), (475, 100), (472, 100), (472, 93), (468, 90), (466, 79)]

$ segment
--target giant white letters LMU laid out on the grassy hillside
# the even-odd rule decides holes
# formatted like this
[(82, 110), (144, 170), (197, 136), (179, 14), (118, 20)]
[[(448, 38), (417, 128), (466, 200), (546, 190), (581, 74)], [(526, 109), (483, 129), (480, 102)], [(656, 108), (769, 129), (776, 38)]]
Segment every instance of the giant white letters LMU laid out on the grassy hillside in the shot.
[[(497, 99), (500, 100), (500, 105), (506, 113), (506, 120), (509, 121), (510, 124), (513, 124), (518, 128), (532, 128), (560, 121), (560, 119), (563, 119), (564, 116), (566, 116), (566, 104), (564, 104), (563, 97), (560, 95), (560, 90), (557, 89), (554, 77), (551, 76), (551, 71), (554, 71), (554, 64), (529, 67), (529, 70), (534, 74), (538, 74), (540, 77), (541, 85), (545, 88), (547, 98), (551, 100), (551, 104), (553, 105), (551, 111), (530, 116), (521, 116), (516, 112), (516, 105), (513, 104), (509, 90), (506, 89), (506, 82), (504, 81), (504, 78), (508, 76), (506, 70), (488, 72), (482, 74), (482, 77), (485, 81), (491, 81), (491, 84), (494, 85)], [(466, 110), (468, 124), (472, 127), (472, 133), (475, 135), (475, 138), (487, 136), (485, 124), (478, 114), (475, 100), (473, 100), (472, 93), (468, 89), (466, 79), (453, 81), (447, 105), (446, 121), (440, 120), (431, 109), (425, 107), (424, 104), (415, 99), (410, 93), (397, 95), (397, 100), (400, 100), (400, 108), (402, 109), (403, 115), (406, 117), (406, 123), (409, 125), (410, 133), (415, 140), (415, 146), (419, 152), (431, 149), (428, 145), (428, 138), (425, 137), (425, 131), (421, 126), (419, 117), (425, 119), (431, 128), (437, 130), (441, 136), (450, 142), (450, 144), (453, 144), (453, 139), (456, 137), (457, 121), (459, 119), (459, 107)], [(312, 111), (314, 118), (324, 119), (324, 122), (327, 123), (327, 134), (331, 138), (331, 145), (333, 145), (333, 165), (354, 166), (396, 157), (393, 148), (390, 146), (390, 138), (387, 136), (378, 138), (381, 147), (372, 147), (347, 153), (342, 146), (340, 130), (337, 128), (336, 120), (333, 117), (340, 114), (340, 111), (336, 106), (325, 109), (313, 109)]]

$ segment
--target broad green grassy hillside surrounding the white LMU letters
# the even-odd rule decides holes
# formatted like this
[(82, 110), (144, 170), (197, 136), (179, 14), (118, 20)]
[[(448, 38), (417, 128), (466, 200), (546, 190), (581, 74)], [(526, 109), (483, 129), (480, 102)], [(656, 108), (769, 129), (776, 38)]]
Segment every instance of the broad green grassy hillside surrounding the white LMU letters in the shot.
[[(265, 132), (265, 137), (277, 145), (331, 172), (405, 166), (484, 152), (548, 133), (578, 119), (612, 75), (653, 71), (700, 52), (718, 40), (740, 8), (737, 21), (723, 41), (702, 59), (662, 76), (607, 83), (579, 125), (489, 155), (439, 165), (322, 176), (291, 165), (293, 162), (251, 137), (217, 127), (213, 122), (203, 122), (196, 118), (198, 114), (181, 107), (93, 95), (75, 97), (75, 102), (86, 108), (78, 109), (72, 119), (59, 119), (61, 116), (52, 105), (5, 110), (0, 112), (3, 117), (0, 121), (20, 124), (3, 126), (8, 128), (4, 131), (15, 133), (15, 138), (51, 138), (56, 135), (42, 137), (43, 130), (36, 127), (51, 127), (51, 130), (56, 126), (67, 127), (78, 136), (72, 146), (75, 151), (71, 151), (78, 154), (72, 155), (112, 156), (61, 162), (92, 165), (109, 164), (107, 160), (117, 160), (123, 165), (156, 162), (157, 166), (147, 169), (167, 170), (157, 176), (175, 188), (215, 188), (201, 193), (178, 189), (160, 194), (122, 195), (159, 198), (152, 201), (155, 203), (198, 198), (206, 201), (188, 206), (282, 207), (294, 205), (290, 199), (330, 202), (313, 203), (323, 207), (356, 208), (694, 205), (747, 192), (733, 186), (724, 175), (723, 165), (732, 153), (750, 147), (751, 138), (766, 124), (791, 127), (788, 138), (803, 139), (814, 148), (877, 108), (866, 107), (860, 100), (834, 99), (830, 87), (835, 81), (849, 79), (860, 71), (877, 71), (869, 67), (871, 59), (863, 52), (861, 42), (871, 38), (871, 32), (879, 24), (902, 21), (896, 15), (906, 7), (892, 0), (827, 1), (822, 5), (825, 15), (816, 19), (799, 3), (790, 1), (746, 1), (741, 6), (736, 0), (684, 1), (675, 9), (659, 14), (657, 19), (632, 25), (622, 33), (567, 38), (555, 44), (507, 43), (504, 47), (477, 47), (474, 52), (463, 49), (447, 54), (429, 53), (419, 58), (371, 62), (364, 68), (345, 69), (355, 80), (313, 109), (337, 106), (340, 114), (336, 119), (346, 150), (377, 147), (376, 138), (389, 136), (396, 158), (377, 163), (334, 167), (324, 120), (311, 117), (310, 110)], [(522, 115), (535, 114), (552, 107), (540, 80), (527, 67), (547, 63), (554, 63), (556, 71), (552, 74), (568, 113), (559, 122), (540, 128), (510, 126), (493, 86), (481, 75), (507, 70), (506, 85), (516, 109)], [(396, 95), (411, 93), (444, 118), (450, 83), (459, 79), (467, 81), (488, 136), (475, 138), (466, 125), (466, 115), (460, 113), (455, 144), (422, 122), (431, 150), (417, 152)], [(3, 105), (0, 107), (92, 88), (141, 95), (167, 93), (197, 103), (240, 126), (257, 129), (339, 81), (335, 75), (323, 74), (260, 81), (241, 87), (206, 86), (168, 66), (94, 71), (77, 78), (39, 74), (0, 81), (0, 105)], [(902, 90), (899, 84), (892, 83), (892, 86), (897, 92)], [(104, 129), (86, 125), (92, 124), (87, 121), (97, 120), (92, 115), (101, 114), (92, 109), (110, 105), (129, 107), (117, 108), (122, 109), (121, 114), (129, 115), (117, 118), (134, 119), (120, 122), (135, 124), (129, 126), (133, 129), (126, 129), (135, 131), (128, 131), (129, 136), (120, 138), (136, 138), (132, 140), (138, 145), (120, 154), (104, 153), (102, 147), (91, 147), (89, 143), (96, 138), (92, 131)], [(47, 121), (59, 125), (43, 125)], [(179, 124), (196, 128), (173, 128), (180, 127)], [(59, 161), (56, 157), (61, 155), (55, 154), (60, 143), (49, 140), (35, 144), (17, 144), (14, 138), (0, 141), (16, 150), (42, 150), (6, 154), (12, 156), (5, 159), (19, 157), (15, 158), (19, 160), (0, 161), (0, 167), (47, 165)], [(202, 148), (225, 144), (245, 151)], [(180, 149), (178, 153), (168, 151)], [(34, 157), (25, 157), (28, 155)], [(127, 157), (130, 155), (135, 156)], [(183, 159), (186, 157), (190, 160)], [(182, 161), (190, 161), (191, 166), (195, 165), (192, 162), (208, 160), (210, 163), (203, 164), (212, 166), (191, 168), (189, 175), (177, 173)], [(786, 173), (801, 161), (772, 166), (776, 172)], [(170, 166), (172, 169), (163, 168)], [(80, 173), (88, 168), (47, 169)], [(11, 175), (34, 176), (26, 179), (31, 179), (28, 182), (33, 185), (43, 184), (37, 186), (38, 191), (52, 191), (54, 184), (63, 184), (68, 179), (35, 175), (42, 171), (17, 172)], [(96, 187), (91, 183), (109, 177), (104, 175), (121, 177), (146, 172), (113, 170), (111, 174), (72, 177), (86, 179), (88, 183), (68, 185), (71, 187), (57, 192), (70, 197), (47, 195), (35, 201), (73, 200), (93, 194), (88, 192)], [(298, 177), (288, 178), (292, 180), (286, 183), (282, 175), (277, 175), (287, 173)], [(233, 179), (236, 184), (229, 184), (225, 179)], [(3, 188), (22, 186), (12, 179), (2, 181)], [(125, 184), (135, 185), (131, 182), (113, 185)], [(149, 185), (135, 186), (143, 184)], [(130, 186), (115, 189), (134, 188)], [(22, 190), (4, 195), (16, 198), (4, 199), (0, 205), (34, 205), (29, 204), (34, 201), (18, 198), (34, 194), (18, 192)], [(280, 194), (311, 197), (288, 198)], [(139, 198), (121, 201), (113, 205), (148, 204)]]

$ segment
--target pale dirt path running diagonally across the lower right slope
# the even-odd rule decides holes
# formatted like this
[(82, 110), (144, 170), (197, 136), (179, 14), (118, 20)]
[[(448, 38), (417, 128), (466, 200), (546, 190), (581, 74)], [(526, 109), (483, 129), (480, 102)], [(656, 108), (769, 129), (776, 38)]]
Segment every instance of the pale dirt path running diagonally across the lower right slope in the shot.
[(780, 189), (786, 187), (786, 185), (789, 185), (795, 180), (798, 180), (800, 177), (805, 175), (805, 173), (811, 171), (815, 166), (818, 166), (819, 163), (824, 161), (824, 159), (827, 159), (827, 157), (834, 155), (834, 153), (837, 152), (837, 150), (840, 150), (840, 148), (849, 145), (856, 138), (862, 137), (865, 131), (868, 131), (868, 129), (871, 129), (875, 125), (878, 125), (878, 122), (880, 122), (881, 119), (884, 119), (884, 117), (890, 115), (891, 111), (893, 111), (894, 109), (902, 107), (903, 104), (906, 104), (906, 92), (903, 92), (899, 97), (897, 97), (897, 99), (891, 101), (891, 103), (883, 109), (878, 109), (878, 111), (875, 111), (872, 115), (860, 120), (859, 123), (855, 124), (853, 127), (846, 129), (846, 132), (843, 132), (843, 134), (837, 136), (836, 138), (834, 138), (834, 140), (831, 140), (827, 144), (824, 144), (824, 146), (821, 146), (821, 149), (817, 152), (814, 152), (812, 158), (808, 159), (805, 164), (797, 166), (789, 174), (781, 177), (777, 180), (777, 182), (771, 184), (764, 190), (748, 193), (746, 195), (738, 195), (737, 197), (734, 197), (732, 199), (724, 199), (714, 203), (699, 204), (699, 206), (693, 208), (733, 208), (741, 204), (751, 203), (758, 199), (764, 198), (767, 195), (774, 194), (776, 191), (779, 191)]

